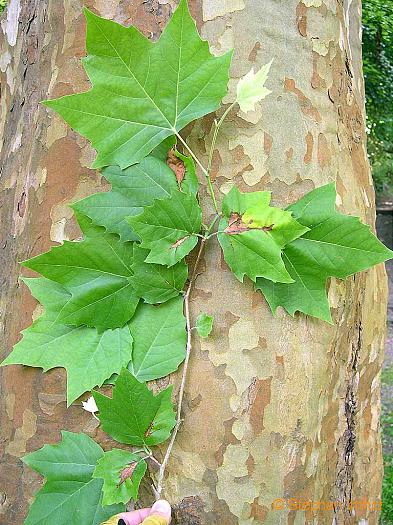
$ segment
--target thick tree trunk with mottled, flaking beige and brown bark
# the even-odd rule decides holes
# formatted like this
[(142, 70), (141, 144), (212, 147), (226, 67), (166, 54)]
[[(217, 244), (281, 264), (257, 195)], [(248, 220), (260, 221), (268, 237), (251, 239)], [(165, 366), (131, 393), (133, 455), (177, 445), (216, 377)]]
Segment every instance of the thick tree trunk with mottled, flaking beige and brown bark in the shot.
[[(87, 89), (82, 4), (159, 36), (175, 0), (10, 0), (1, 68), (3, 357), (36, 315), (18, 283), (21, 261), (79, 233), (67, 203), (104, 189), (93, 152), (39, 101)], [(343, 5), (344, 4), (344, 5)], [(341, 211), (374, 224), (365, 150), (360, 0), (193, 0), (214, 52), (235, 48), (232, 78), (274, 58), (272, 94), (232, 114), (214, 156), (217, 192), (273, 191), (287, 205), (335, 180)], [(165, 72), (163, 72), (165, 74)], [(233, 95), (234, 83), (231, 85)], [(228, 101), (231, 100), (231, 94)], [(190, 127), (203, 156), (213, 116)], [(208, 206), (206, 196), (202, 204)], [(379, 373), (386, 312), (382, 266), (333, 280), (334, 326), (279, 311), (225, 266), (215, 241), (204, 257), (193, 315), (215, 317), (194, 341), (185, 421), (166, 481), (182, 524), (377, 524), (349, 502), (380, 497)], [(178, 385), (178, 377), (173, 381)], [(39, 477), (20, 457), (60, 430), (108, 438), (79, 404), (65, 407), (65, 374), (1, 370), (0, 522), (21, 523)], [(146, 491), (148, 488), (146, 487)], [(281, 498), (340, 502), (335, 510), (272, 508)], [(276, 506), (280, 507), (279, 501)], [(323, 506), (323, 505), (322, 505)]]

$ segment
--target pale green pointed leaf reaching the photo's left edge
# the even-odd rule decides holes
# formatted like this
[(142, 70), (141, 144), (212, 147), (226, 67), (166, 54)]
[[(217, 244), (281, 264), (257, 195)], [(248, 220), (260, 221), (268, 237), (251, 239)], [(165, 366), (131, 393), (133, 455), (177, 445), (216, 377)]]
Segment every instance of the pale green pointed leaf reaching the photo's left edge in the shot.
[(53, 281), (24, 279), (32, 295), (44, 306), (44, 314), (23, 330), (23, 338), (1, 363), (67, 370), (67, 402), (101, 386), (127, 366), (132, 357), (128, 326), (99, 332), (86, 326), (68, 326), (59, 320), (70, 294)]

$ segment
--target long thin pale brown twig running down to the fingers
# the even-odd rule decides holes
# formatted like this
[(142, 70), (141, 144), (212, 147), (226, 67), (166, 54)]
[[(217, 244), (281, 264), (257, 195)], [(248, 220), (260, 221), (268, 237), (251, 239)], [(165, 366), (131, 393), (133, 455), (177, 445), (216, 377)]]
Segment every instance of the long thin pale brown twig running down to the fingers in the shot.
[(180, 426), (182, 424), (181, 413), (182, 413), (182, 408), (183, 408), (184, 391), (185, 391), (186, 381), (187, 381), (187, 372), (188, 372), (188, 365), (189, 365), (189, 362), (190, 362), (191, 342), (192, 342), (191, 341), (191, 339), (192, 339), (192, 336), (191, 336), (192, 327), (191, 327), (191, 317), (190, 317), (190, 294), (191, 294), (192, 286), (193, 286), (193, 284), (195, 282), (195, 279), (197, 277), (198, 264), (199, 264), (199, 261), (200, 261), (201, 256), (202, 256), (205, 243), (206, 243), (206, 238), (202, 239), (201, 244), (199, 245), (199, 251), (198, 251), (198, 255), (197, 255), (196, 261), (195, 261), (194, 269), (192, 271), (192, 275), (190, 277), (190, 281), (189, 281), (189, 284), (188, 284), (188, 287), (187, 287), (187, 291), (186, 291), (186, 294), (184, 296), (184, 313), (185, 313), (185, 317), (186, 317), (186, 328), (187, 328), (186, 357), (185, 357), (185, 360), (184, 360), (183, 373), (182, 373), (180, 389), (179, 389), (179, 399), (178, 399), (178, 402), (177, 402), (176, 424), (175, 424), (175, 428), (173, 429), (172, 436), (171, 436), (171, 439), (170, 439), (169, 444), (168, 444), (168, 448), (166, 449), (166, 453), (165, 453), (164, 459), (163, 459), (163, 461), (161, 463), (160, 471), (158, 473), (157, 489), (155, 490), (156, 499), (160, 499), (160, 497), (161, 497), (162, 485), (163, 485), (164, 476), (165, 476), (165, 470), (166, 470), (169, 458), (170, 458), (171, 453), (172, 453), (173, 445), (175, 444), (175, 441), (176, 441), (177, 433), (178, 433), (179, 428), (180, 428)]

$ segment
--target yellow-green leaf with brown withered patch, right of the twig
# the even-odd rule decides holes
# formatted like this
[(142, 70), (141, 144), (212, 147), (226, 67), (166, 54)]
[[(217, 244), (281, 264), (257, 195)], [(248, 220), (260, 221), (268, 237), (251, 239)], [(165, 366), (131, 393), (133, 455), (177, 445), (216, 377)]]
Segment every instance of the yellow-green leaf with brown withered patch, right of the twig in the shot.
[(270, 194), (240, 193), (232, 189), (223, 201), (228, 218), (219, 224), (218, 240), (224, 258), (243, 282), (265, 277), (274, 282), (293, 281), (282, 260), (283, 246), (307, 231), (290, 212), (269, 206)]

